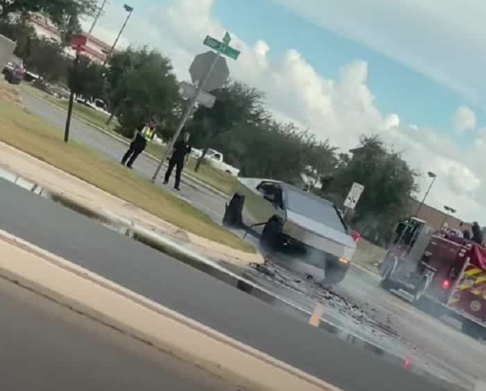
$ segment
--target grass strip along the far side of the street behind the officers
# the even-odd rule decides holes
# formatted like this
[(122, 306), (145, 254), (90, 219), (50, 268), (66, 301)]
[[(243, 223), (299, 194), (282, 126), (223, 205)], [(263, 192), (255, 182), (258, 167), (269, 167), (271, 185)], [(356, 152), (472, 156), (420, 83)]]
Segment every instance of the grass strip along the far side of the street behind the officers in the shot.
[[(37, 90), (37, 88), (28, 85), (28, 83), (22, 83), (19, 86), (19, 89), (28, 94), (32, 94), (37, 98), (44, 99), (49, 103), (53, 104), (54, 106), (57, 106), (58, 108), (67, 110), (66, 100), (57, 99), (56, 97), (51, 97), (45, 92), (42, 92), (41, 90)], [(73, 111), (78, 117), (83, 119), (85, 122), (88, 122), (99, 128), (105, 129), (106, 131), (110, 131), (111, 133), (117, 135), (118, 137), (122, 137), (121, 135), (119, 135), (119, 133), (115, 132), (115, 128), (118, 126), (117, 121), (114, 120), (112, 121), (110, 126), (106, 126), (106, 120), (108, 119), (108, 116), (104, 115), (103, 113), (100, 113), (97, 110), (93, 110), (92, 108), (89, 108), (83, 104), (76, 103), (76, 102), (74, 103)], [(128, 139), (126, 140), (129, 141)], [(162, 158), (162, 156), (165, 156), (165, 151), (166, 151), (165, 146), (159, 144), (153, 144), (153, 143), (150, 143), (146, 148), (146, 152), (150, 153), (153, 156), (156, 156), (157, 158)], [(215, 169), (208, 164), (201, 165), (201, 167), (199, 168), (199, 172), (194, 172), (195, 166), (196, 166), (196, 160), (190, 158), (189, 165), (186, 167), (185, 173), (190, 176), (194, 176), (194, 178), (197, 178), (200, 181), (207, 183), (212, 188), (215, 188), (220, 192), (223, 192), (224, 194), (228, 194), (228, 195), (231, 194), (231, 190), (233, 190), (234, 185), (236, 183), (235, 177), (227, 174), (226, 172), (222, 172), (219, 169)]]

